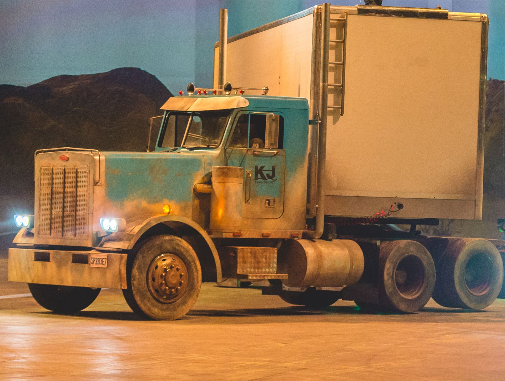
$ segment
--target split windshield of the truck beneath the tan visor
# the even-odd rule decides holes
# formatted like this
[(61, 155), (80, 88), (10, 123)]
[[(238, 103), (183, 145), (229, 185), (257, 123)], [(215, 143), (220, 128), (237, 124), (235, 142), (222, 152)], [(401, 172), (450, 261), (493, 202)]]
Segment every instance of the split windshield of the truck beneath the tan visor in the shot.
[(158, 147), (216, 147), (221, 142), (231, 110), (171, 112)]

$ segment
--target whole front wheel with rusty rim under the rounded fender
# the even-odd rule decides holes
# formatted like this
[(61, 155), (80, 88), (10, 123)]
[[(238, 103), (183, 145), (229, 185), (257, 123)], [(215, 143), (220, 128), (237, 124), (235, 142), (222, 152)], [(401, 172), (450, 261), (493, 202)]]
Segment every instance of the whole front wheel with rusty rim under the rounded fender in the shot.
[(175, 235), (155, 235), (130, 253), (123, 295), (137, 315), (175, 320), (194, 305), (201, 285), (196, 253)]

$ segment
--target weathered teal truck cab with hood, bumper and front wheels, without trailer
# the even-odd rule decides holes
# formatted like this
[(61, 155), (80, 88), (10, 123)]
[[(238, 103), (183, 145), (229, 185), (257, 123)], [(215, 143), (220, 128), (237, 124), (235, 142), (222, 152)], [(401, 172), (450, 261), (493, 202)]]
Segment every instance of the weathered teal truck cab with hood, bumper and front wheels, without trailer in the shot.
[(35, 215), (9, 279), (43, 307), (78, 311), (117, 288), (140, 315), (174, 319), (201, 281), (287, 278), (276, 254), (306, 230), (307, 100), (193, 95), (162, 109), (152, 152), (36, 152)]

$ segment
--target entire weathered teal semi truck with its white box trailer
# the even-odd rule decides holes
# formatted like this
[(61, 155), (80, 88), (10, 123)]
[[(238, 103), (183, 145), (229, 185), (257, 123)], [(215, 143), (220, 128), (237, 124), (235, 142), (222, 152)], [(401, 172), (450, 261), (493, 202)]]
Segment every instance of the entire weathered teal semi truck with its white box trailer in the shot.
[(35, 152), (9, 280), (60, 313), (121, 289), (147, 319), (230, 279), (307, 308), (486, 308), (503, 242), (417, 226), (482, 218), (487, 31), (323, 4), (228, 38), (221, 10), (214, 84), (162, 106), (154, 147)]

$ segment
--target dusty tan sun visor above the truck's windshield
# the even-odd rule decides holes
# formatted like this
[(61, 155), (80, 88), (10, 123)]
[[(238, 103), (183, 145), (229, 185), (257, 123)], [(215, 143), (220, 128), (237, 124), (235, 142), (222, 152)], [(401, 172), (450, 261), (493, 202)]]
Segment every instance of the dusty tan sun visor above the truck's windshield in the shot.
[(172, 97), (161, 107), (173, 111), (207, 111), (238, 109), (249, 105), (249, 101), (240, 96), (232, 97)]

